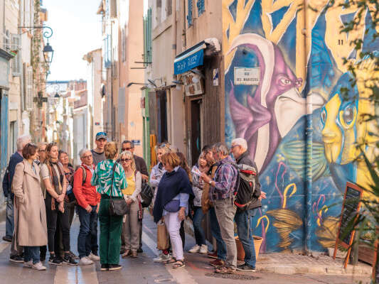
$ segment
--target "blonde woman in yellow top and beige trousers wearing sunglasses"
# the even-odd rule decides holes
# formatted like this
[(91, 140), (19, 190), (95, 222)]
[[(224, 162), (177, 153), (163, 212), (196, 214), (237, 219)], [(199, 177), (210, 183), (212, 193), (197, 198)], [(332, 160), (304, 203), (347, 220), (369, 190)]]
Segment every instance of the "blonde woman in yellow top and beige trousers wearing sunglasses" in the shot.
[(122, 190), (125, 202), (129, 205), (129, 214), (124, 215), (122, 224), (122, 234), (125, 241), (125, 252), (122, 258), (127, 256), (137, 257), (139, 248), (139, 219), (142, 219), (142, 206), (139, 200), (141, 192), (142, 175), (136, 170), (133, 153), (124, 151), (119, 159), (125, 171), (127, 187)]

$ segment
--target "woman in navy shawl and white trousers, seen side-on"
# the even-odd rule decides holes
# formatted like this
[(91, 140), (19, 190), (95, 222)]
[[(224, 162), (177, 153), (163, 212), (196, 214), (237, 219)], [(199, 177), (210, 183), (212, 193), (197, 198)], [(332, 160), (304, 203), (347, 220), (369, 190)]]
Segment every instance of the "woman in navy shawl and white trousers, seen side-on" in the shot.
[(188, 214), (188, 199), (193, 195), (188, 175), (179, 165), (181, 160), (176, 153), (166, 153), (161, 157), (166, 173), (158, 185), (154, 202), (154, 222), (164, 218), (169, 231), (173, 258), (165, 264), (172, 264), (173, 268), (184, 267), (183, 243), (179, 230), (181, 222)]

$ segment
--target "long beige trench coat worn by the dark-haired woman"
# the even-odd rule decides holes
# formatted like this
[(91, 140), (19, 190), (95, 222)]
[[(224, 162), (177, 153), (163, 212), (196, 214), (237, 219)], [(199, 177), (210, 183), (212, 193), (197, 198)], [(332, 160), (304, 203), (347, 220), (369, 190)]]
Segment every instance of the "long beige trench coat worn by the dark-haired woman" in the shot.
[(14, 231), (19, 246), (48, 244), (45, 200), (41, 191), (40, 168), (23, 159), (16, 165), (12, 192), (14, 192)]

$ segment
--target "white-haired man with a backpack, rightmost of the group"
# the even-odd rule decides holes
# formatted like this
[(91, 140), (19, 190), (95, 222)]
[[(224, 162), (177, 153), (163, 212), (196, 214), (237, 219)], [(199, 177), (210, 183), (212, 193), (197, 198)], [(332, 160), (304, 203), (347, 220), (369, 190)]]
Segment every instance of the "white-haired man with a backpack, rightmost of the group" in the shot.
[[(250, 204), (247, 208), (237, 208), (235, 212), (235, 224), (237, 225), (237, 234), (245, 251), (245, 263), (237, 266), (238, 271), (255, 271), (255, 246), (252, 238), (251, 219), (257, 213), (257, 209), (262, 207), (260, 200), (266, 197), (265, 192), (260, 190), (260, 181), (258, 179), (258, 169), (255, 162), (250, 158), (247, 151), (247, 142), (244, 138), (235, 138), (232, 141), (231, 151), (237, 164), (250, 165), (255, 168), (255, 191)], [(240, 183), (240, 186), (242, 184)], [(262, 195), (261, 195), (262, 194)]]

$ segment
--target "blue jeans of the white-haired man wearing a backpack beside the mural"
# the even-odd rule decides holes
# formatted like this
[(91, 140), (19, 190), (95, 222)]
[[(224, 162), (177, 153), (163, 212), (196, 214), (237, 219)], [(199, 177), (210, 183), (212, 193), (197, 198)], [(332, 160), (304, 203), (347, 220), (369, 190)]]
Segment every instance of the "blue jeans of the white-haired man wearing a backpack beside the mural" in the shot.
[(245, 251), (245, 264), (255, 268), (255, 246), (252, 238), (251, 218), (257, 213), (257, 208), (245, 210), (244, 212), (235, 213), (235, 224), (237, 225), (237, 234)]

